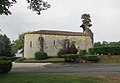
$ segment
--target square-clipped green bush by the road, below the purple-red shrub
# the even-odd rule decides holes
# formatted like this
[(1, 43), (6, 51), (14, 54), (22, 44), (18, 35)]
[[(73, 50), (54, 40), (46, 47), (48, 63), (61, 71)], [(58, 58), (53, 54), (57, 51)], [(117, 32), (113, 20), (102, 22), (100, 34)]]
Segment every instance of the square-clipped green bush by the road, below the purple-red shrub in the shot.
[(79, 58), (77, 54), (66, 54), (65, 55), (65, 62), (75, 62)]

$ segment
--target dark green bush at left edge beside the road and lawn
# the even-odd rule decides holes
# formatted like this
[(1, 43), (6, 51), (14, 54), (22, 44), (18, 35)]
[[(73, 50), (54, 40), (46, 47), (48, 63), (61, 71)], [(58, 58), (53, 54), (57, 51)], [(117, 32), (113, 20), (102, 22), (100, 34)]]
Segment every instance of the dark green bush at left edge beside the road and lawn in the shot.
[(0, 60), (0, 73), (8, 73), (12, 68), (12, 61)]

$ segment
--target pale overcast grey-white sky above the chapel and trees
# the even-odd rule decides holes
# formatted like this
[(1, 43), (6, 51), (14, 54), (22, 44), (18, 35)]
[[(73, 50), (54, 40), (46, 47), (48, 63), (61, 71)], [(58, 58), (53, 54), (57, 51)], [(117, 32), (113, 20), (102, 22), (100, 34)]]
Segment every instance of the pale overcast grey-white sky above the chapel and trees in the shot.
[(36, 30), (82, 32), (81, 15), (90, 14), (94, 41), (120, 41), (120, 0), (44, 0), (51, 8), (37, 15), (27, 9), (26, 0), (17, 0), (10, 11), (0, 15), (0, 29), (11, 41), (19, 34)]

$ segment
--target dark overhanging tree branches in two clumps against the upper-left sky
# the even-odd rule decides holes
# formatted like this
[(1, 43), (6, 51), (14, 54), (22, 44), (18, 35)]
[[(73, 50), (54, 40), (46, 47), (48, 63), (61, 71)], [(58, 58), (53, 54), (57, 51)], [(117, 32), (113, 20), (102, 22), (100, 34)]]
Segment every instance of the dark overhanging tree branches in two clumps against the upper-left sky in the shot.
[[(0, 0), (0, 15), (9, 15), (11, 12), (9, 11), (9, 8), (13, 6), (13, 4), (17, 3), (16, 0)], [(43, 0), (27, 0), (27, 3), (29, 3), (28, 8), (36, 11), (38, 15), (40, 15), (42, 10), (47, 10), (50, 8), (50, 4)]]

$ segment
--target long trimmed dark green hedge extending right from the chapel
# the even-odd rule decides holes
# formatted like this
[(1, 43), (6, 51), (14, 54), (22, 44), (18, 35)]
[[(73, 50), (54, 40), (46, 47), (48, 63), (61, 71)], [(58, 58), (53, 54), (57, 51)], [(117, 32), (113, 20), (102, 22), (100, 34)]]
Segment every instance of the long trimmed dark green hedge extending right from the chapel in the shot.
[(96, 47), (89, 49), (90, 54), (120, 55), (120, 47)]

